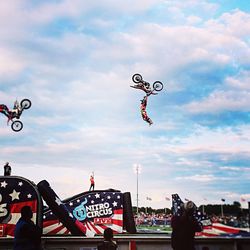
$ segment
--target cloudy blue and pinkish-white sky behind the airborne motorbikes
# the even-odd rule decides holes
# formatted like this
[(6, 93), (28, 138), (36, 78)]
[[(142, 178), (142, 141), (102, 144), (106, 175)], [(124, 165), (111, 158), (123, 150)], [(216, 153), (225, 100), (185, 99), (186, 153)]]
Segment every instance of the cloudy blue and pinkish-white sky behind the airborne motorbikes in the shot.
[[(139, 206), (250, 201), (248, 0), (1, 1), (0, 37), (0, 103), (32, 101), (20, 132), (0, 116), (13, 175), (65, 199), (94, 172), (136, 206), (140, 166)], [(152, 126), (135, 73), (164, 84)]]

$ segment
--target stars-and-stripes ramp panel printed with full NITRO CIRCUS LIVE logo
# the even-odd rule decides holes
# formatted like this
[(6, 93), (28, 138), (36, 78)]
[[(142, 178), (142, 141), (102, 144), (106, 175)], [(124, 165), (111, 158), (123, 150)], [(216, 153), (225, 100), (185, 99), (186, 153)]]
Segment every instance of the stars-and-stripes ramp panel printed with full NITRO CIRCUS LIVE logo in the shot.
[[(105, 228), (114, 233), (123, 231), (123, 194), (121, 192), (92, 191), (64, 202), (76, 226), (87, 237), (103, 234)], [(43, 215), (43, 234), (71, 234), (50, 209)]]

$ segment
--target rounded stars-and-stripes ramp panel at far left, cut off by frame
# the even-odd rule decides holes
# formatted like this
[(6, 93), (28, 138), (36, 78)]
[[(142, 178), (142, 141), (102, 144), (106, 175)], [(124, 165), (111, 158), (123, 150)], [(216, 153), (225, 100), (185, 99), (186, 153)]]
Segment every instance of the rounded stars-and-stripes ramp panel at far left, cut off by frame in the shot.
[(0, 236), (13, 237), (23, 206), (30, 206), (40, 224), (41, 199), (35, 184), (21, 177), (0, 177)]

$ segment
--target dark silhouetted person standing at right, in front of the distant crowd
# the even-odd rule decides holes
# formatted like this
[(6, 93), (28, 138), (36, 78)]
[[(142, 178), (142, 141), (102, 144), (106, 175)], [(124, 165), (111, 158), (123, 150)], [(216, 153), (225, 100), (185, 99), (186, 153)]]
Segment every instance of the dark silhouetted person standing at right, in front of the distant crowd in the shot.
[(194, 218), (195, 209), (194, 203), (188, 201), (183, 206), (182, 215), (172, 217), (171, 245), (174, 250), (195, 250), (195, 232), (202, 230), (202, 226)]

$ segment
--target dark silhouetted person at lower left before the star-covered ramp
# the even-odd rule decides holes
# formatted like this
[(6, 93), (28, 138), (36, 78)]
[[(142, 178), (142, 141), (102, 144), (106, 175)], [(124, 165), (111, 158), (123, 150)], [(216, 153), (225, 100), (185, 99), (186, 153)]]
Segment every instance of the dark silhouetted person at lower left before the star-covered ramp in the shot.
[(14, 233), (14, 250), (40, 250), (42, 230), (31, 220), (33, 216), (29, 206), (21, 209)]

